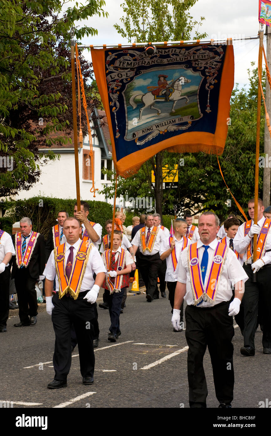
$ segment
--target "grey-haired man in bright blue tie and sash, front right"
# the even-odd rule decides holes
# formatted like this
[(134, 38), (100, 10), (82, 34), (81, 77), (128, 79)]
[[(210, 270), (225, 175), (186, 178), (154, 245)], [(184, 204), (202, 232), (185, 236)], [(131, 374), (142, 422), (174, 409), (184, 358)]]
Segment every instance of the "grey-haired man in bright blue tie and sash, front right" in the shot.
[[(233, 315), (239, 312), (247, 274), (236, 255), (217, 241), (219, 219), (213, 212), (199, 218), (200, 240), (183, 250), (172, 323), (180, 326), (180, 307), (186, 300), (187, 371), (191, 408), (206, 408), (207, 384), (203, 357), (208, 346), (220, 408), (230, 408), (234, 391)], [(232, 299), (231, 283), (235, 285)]]

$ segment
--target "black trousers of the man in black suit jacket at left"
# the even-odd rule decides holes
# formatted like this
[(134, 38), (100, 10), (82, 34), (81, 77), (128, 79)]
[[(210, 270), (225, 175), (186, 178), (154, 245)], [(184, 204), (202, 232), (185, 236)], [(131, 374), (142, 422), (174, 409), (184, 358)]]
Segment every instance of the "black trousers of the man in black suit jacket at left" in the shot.
[(37, 316), (37, 293), (35, 290), (37, 279), (33, 279), (30, 276), (27, 268), (17, 269), (14, 279), (18, 296), (20, 321), (22, 323), (29, 323), (29, 316)]

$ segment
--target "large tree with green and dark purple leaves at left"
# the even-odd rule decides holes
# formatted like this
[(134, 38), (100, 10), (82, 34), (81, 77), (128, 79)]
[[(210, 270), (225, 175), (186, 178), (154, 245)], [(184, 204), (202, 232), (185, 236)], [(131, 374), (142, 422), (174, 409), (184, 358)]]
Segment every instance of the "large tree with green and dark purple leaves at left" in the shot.
[[(107, 13), (104, 0), (90, 0), (85, 6), (76, 2), (62, 13), (65, 3), (1, 0), (0, 196), (29, 189), (38, 180), (41, 158), (46, 163), (57, 157), (51, 150), (41, 153), (39, 147), (68, 141), (58, 135), (50, 139), (50, 133), (71, 133), (70, 31), (75, 22)], [(97, 33), (93, 27), (78, 27), (75, 38)], [(86, 85), (91, 64), (81, 60), (81, 68)], [(91, 87), (87, 98), (88, 106), (99, 105)], [(84, 115), (82, 129), (86, 133)]]

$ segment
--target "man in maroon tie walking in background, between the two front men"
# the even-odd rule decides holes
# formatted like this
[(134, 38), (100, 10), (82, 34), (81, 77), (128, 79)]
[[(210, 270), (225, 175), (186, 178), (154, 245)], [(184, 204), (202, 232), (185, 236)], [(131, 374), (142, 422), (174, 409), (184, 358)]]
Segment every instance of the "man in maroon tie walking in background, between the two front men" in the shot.
[(137, 266), (141, 272), (146, 286), (146, 300), (151, 303), (157, 285), (157, 275), (160, 259), (159, 250), (163, 239), (166, 238), (163, 230), (153, 224), (153, 215), (146, 215), (145, 227), (136, 232), (132, 240), (133, 252), (139, 247)]

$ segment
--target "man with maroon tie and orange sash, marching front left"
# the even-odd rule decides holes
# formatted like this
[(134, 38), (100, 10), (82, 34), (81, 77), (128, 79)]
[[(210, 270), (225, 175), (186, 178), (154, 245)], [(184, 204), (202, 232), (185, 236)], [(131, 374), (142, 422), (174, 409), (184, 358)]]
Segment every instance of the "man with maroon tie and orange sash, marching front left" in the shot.
[[(67, 375), (71, 367), (71, 323), (75, 327), (78, 341), (83, 384), (93, 384), (94, 304), (106, 271), (98, 250), (88, 241), (81, 241), (80, 233), (80, 221), (67, 218), (64, 221), (67, 242), (64, 247), (60, 245), (51, 252), (44, 269), (46, 310), (52, 315), (55, 332), (55, 376), (47, 386), (49, 389), (67, 386)], [(95, 282), (93, 274), (96, 274)], [(55, 276), (58, 294), (52, 297)]]

